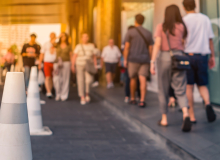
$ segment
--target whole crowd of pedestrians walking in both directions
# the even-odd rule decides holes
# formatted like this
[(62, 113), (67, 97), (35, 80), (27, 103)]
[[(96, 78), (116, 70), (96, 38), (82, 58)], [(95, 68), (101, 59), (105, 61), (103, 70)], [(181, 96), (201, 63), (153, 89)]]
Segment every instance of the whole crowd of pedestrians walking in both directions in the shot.
[[(80, 103), (85, 105), (91, 100), (90, 87), (94, 80), (93, 86), (99, 84), (100, 70), (105, 68), (107, 88), (111, 89), (114, 88), (116, 70), (120, 67), (125, 102), (144, 108), (147, 105), (147, 79), (157, 73), (162, 115), (158, 125), (168, 126), (168, 106), (177, 100), (183, 113), (182, 130), (191, 130), (192, 124), (196, 123), (193, 109), (194, 84), (198, 86), (205, 102), (208, 121), (215, 121), (216, 115), (207, 88), (208, 67), (215, 66), (212, 25), (206, 15), (195, 12), (194, 0), (184, 0), (183, 6), (187, 13), (184, 18), (178, 6), (170, 5), (166, 8), (164, 22), (158, 24), (154, 36), (142, 26), (145, 17), (136, 15), (134, 26), (128, 28), (122, 51), (113, 39), (109, 39), (101, 53), (95, 44), (90, 43), (87, 33), (81, 34), (81, 41), (74, 49), (66, 33), (61, 33), (58, 38), (55, 33), (51, 33), (50, 41), (41, 48), (36, 43), (37, 36), (32, 34), (21, 52), (26, 89), (30, 68), (38, 65), (39, 72), (44, 72), (46, 96), (55, 96), (56, 101), (66, 101), (72, 71), (73, 77), (76, 77)], [(6, 67), (14, 63), (10, 49), (3, 59)], [(175, 63), (179, 66), (174, 69)], [(182, 69), (184, 65), (190, 68)]]

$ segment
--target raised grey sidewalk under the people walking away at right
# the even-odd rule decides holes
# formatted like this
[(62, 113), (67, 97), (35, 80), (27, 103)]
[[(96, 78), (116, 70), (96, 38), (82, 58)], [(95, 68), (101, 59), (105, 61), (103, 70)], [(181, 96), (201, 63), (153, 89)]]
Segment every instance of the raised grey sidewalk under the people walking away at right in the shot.
[(96, 88), (94, 89), (94, 94), (101, 96), (106, 102), (114, 105), (118, 111), (126, 114), (130, 119), (141, 122), (198, 159), (220, 160), (219, 112), (217, 113), (217, 121), (210, 124), (206, 120), (204, 106), (202, 104), (196, 104), (198, 124), (193, 125), (192, 132), (183, 133), (181, 131), (182, 113), (178, 111), (178, 108), (170, 108), (169, 110), (169, 127), (163, 128), (157, 125), (161, 115), (159, 113), (156, 93), (148, 93), (148, 107), (145, 109), (125, 104), (122, 87), (116, 87), (110, 90)]

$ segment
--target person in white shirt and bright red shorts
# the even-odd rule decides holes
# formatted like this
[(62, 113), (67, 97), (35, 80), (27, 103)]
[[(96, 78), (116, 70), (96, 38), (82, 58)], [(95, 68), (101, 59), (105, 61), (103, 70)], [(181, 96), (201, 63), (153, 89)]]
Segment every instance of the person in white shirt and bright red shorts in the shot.
[(45, 87), (46, 96), (52, 98), (52, 88), (53, 88), (53, 63), (56, 60), (56, 34), (50, 34), (50, 41), (46, 42), (41, 49), (40, 59), (38, 69), (42, 69), (42, 61), (44, 61), (44, 74), (45, 74)]

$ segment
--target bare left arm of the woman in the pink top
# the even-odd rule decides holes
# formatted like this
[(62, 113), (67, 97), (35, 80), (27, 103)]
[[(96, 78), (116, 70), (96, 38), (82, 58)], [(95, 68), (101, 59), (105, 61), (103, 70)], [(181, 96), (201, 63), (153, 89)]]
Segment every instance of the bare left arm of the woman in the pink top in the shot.
[(161, 37), (156, 37), (155, 44), (153, 47), (153, 52), (152, 52), (151, 63), (150, 63), (150, 72), (152, 75), (156, 74), (155, 63), (156, 63), (157, 54), (159, 53), (160, 48), (161, 48)]

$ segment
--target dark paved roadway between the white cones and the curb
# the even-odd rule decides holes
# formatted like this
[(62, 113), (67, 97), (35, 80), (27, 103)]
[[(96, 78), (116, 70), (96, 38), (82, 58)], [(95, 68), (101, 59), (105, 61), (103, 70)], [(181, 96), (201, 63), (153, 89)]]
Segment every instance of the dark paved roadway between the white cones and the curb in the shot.
[(90, 104), (80, 106), (76, 88), (71, 88), (66, 102), (41, 95), (46, 100), (43, 122), (54, 135), (31, 137), (34, 160), (185, 159), (178, 149), (170, 150), (166, 141), (142, 134), (95, 97)]

